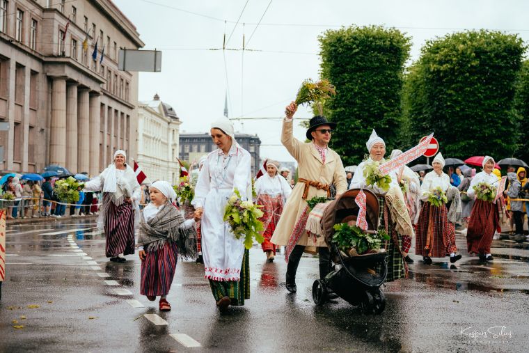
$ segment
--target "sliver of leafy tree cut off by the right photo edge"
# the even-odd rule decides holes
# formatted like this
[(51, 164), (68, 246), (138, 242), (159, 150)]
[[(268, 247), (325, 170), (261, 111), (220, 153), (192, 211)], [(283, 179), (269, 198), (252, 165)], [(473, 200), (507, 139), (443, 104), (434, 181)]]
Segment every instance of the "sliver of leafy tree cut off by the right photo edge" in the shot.
[(516, 84), (514, 106), (519, 115), (520, 138), (516, 157), (529, 162), (529, 61), (524, 61)]

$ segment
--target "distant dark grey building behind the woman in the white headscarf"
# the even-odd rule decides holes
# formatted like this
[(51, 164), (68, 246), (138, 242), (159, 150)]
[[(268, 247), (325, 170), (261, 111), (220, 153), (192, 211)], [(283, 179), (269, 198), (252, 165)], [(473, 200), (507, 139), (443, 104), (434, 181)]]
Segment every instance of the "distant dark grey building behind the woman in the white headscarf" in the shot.
[[(240, 134), (235, 132), (235, 139), (252, 156), (252, 174), (255, 175), (260, 168), (259, 148), (261, 140), (259, 136)], [(203, 134), (180, 134), (180, 159), (189, 163), (197, 162), (201, 155), (206, 155), (216, 150), (209, 132)]]

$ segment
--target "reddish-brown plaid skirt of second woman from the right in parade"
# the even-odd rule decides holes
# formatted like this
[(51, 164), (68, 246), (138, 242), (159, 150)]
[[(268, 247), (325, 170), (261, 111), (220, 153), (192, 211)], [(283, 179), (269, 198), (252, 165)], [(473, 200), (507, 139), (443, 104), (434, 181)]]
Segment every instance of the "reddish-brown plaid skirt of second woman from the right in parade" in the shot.
[(444, 258), (457, 252), (455, 246), (455, 228), (448, 221), (446, 206), (436, 207), (429, 202), (420, 210), (415, 253), (420, 256)]

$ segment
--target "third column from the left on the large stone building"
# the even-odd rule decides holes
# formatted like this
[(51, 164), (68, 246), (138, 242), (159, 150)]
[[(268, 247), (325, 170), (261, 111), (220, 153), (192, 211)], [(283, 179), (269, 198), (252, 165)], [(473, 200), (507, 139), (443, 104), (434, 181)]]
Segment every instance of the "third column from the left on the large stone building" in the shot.
[(79, 90), (77, 100), (77, 171), (79, 173), (90, 170), (90, 100), (88, 88)]

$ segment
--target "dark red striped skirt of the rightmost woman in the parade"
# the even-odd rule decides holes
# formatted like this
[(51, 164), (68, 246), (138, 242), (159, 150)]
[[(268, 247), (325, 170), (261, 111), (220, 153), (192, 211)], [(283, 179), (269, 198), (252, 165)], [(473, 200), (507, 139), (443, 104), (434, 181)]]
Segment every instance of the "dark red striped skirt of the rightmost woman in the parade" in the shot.
[(466, 245), (469, 253), (491, 253), (492, 237), (494, 237), (499, 221), (498, 207), (494, 203), (475, 201), (466, 232)]

